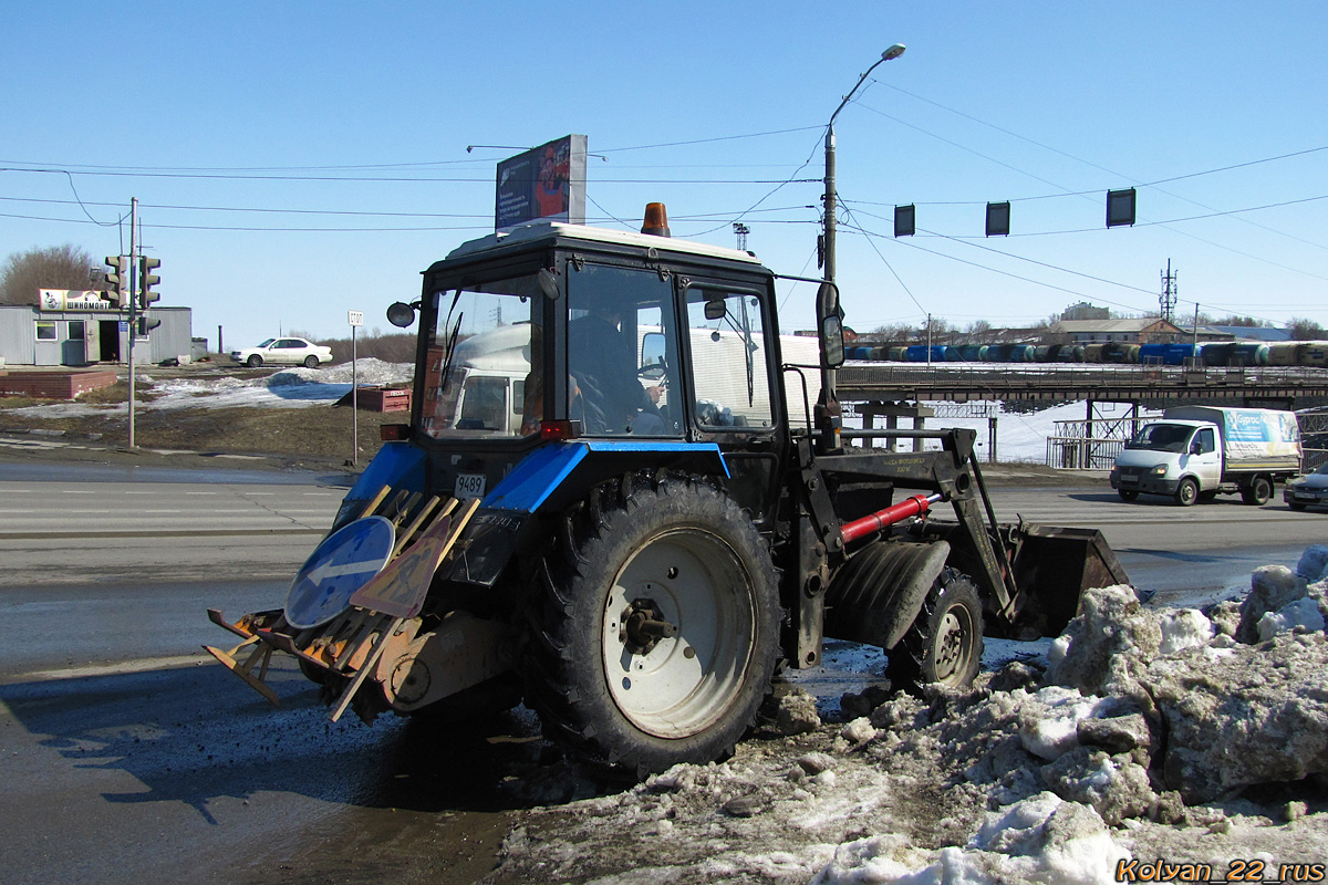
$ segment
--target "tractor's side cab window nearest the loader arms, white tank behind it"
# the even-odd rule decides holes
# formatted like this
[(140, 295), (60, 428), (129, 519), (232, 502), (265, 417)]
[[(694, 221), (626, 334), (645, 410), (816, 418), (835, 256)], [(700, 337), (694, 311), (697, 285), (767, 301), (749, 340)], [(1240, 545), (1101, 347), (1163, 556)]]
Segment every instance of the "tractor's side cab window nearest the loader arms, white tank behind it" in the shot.
[(689, 288), (687, 318), (697, 423), (708, 430), (772, 427), (761, 301), (752, 293)]

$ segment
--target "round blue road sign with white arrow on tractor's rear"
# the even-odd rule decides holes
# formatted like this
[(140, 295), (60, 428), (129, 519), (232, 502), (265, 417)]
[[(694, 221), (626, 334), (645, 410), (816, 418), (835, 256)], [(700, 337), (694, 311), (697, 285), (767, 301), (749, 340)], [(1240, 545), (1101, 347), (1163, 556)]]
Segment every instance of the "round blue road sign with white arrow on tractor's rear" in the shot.
[(286, 620), (301, 630), (327, 624), (351, 606), (351, 597), (382, 571), (397, 532), (382, 516), (367, 516), (323, 539), (286, 594)]

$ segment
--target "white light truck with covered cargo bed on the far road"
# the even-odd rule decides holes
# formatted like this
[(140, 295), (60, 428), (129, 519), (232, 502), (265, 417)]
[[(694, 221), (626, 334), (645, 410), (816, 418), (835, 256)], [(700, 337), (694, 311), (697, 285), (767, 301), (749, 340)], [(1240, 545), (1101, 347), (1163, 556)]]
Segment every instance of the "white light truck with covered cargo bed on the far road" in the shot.
[(1166, 495), (1182, 507), (1239, 492), (1247, 504), (1300, 472), (1295, 413), (1274, 409), (1177, 406), (1143, 425), (1112, 467), (1122, 500)]

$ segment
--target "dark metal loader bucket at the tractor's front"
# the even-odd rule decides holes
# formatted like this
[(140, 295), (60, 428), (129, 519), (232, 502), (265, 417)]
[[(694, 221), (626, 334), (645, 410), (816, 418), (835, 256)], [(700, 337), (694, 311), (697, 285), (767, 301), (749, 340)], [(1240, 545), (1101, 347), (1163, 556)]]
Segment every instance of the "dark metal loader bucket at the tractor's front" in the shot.
[(1060, 636), (1078, 613), (1084, 590), (1130, 582), (1096, 528), (1025, 524), (1021, 535), (1012, 563), (1021, 597), (1020, 628)]

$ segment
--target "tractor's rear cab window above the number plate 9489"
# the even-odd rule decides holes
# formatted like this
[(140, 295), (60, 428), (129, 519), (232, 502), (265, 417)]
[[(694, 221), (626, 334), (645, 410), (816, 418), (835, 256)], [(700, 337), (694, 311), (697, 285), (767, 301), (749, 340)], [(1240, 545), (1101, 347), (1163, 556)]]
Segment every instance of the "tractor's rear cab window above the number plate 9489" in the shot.
[(543, 296), (537, 277), (471, 283), (430, 297), (438, 318), (425, 362), (424, 431), (434, 439), (515, 439), (538, 431)]

